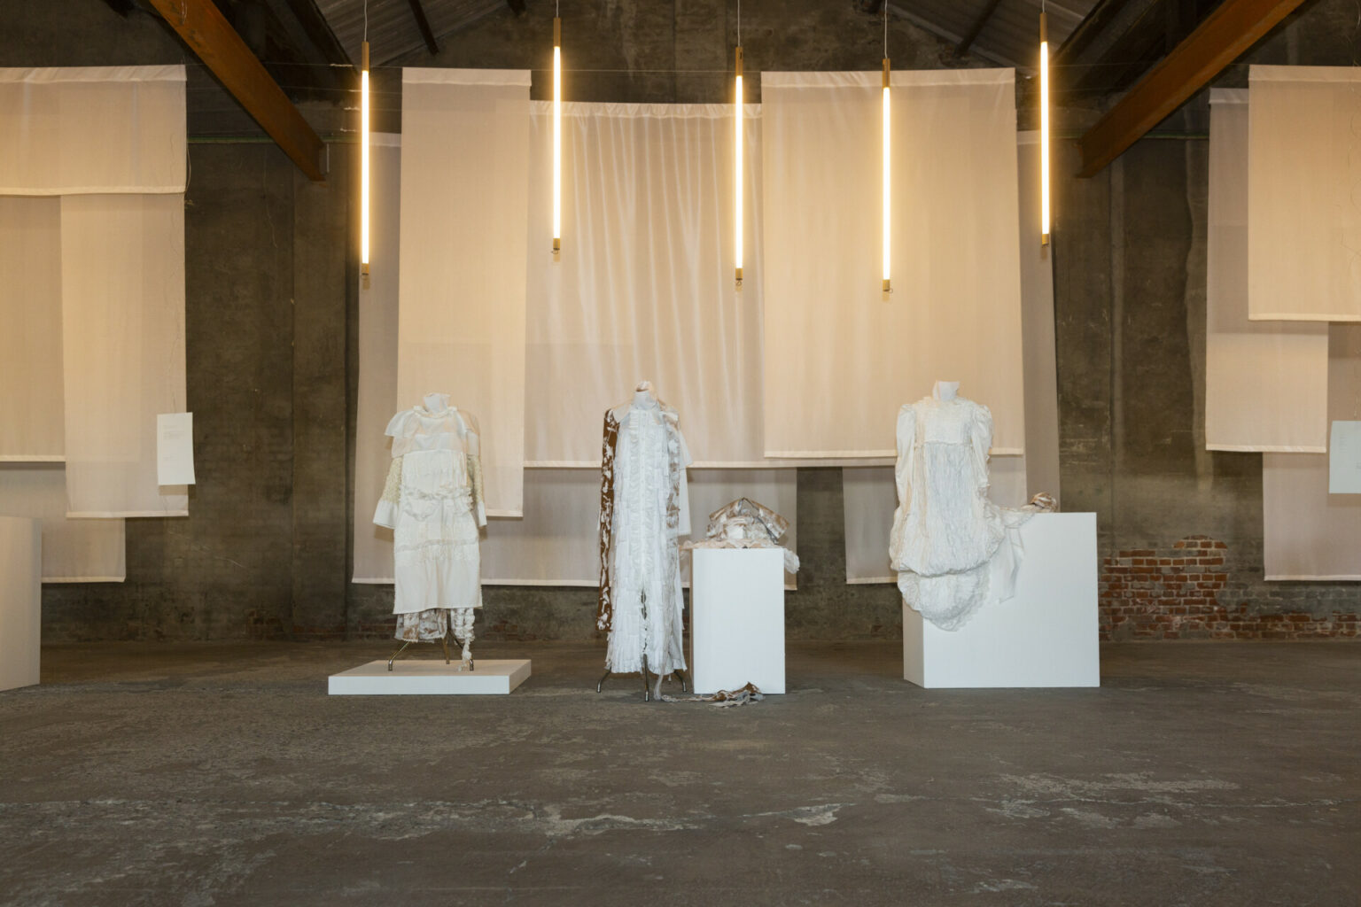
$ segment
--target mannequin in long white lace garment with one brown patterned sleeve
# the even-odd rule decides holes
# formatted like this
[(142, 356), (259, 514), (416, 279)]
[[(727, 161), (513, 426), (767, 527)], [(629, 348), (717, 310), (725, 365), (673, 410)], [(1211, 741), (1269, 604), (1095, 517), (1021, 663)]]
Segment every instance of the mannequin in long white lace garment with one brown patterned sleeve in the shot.
[(649, 672), (660, 684), (686, 666), (679, 540), (690, 534), (690, 451), (680, 416), (651, 382), (638, 382), (627, 404), (606, 412), (600, 460), (596, 627), (610, 634), (604, 677), (641, 672), (651, 699)]

